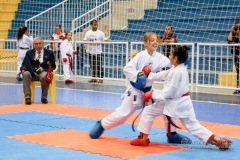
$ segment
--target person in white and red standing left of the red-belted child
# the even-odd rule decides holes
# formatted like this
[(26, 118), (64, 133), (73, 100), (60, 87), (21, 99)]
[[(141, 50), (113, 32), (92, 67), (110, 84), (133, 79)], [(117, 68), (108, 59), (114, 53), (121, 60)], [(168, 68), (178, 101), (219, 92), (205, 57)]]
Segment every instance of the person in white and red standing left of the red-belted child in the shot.
[(51, 48), (54, 52), (56, 60), (60, 58), (60, 45), (61, 42), (65, 40), (65, 33), (62, 31), (61, 25), (56, 25), (55, 32), (50, 37), (51, 42)]

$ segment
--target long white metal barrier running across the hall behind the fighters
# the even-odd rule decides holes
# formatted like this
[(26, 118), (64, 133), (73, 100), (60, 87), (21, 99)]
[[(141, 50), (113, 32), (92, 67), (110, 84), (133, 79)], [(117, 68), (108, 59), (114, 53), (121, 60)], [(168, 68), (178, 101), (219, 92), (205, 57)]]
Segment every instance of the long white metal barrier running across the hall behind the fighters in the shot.
[[(44, 43), (46, 48), (50, 49), (51, 41), (45, 40)], [(76, 78), (91, 78), (89, 54), (86, 53), (86, 47), (89, 44), (102, 45), (103, 79), (116, 81), (126, 79), (122, 70), (129, 61), (129, 53), (132, 50), (144, 49), (142, 42), (129, 44), (128, 42), (73, 41), (74, 49), (79, 51), (79, 54), (74, 55), (73, 58), (73, 73)], [(169, 45), (188, 45), (191, 48), (189, 51), (191, 63), (187, 65), (191, 91), (197, 90), (198, 87), (237, 88), (237, 73), (231, 49), (234, 46), (240, 47), (240, 44), (172, 43)], [(159, 46), (158, 51), (162, 52), (162, 46)], [(55, 55), (55, 57), (57, 60), (57, 57), (60, 57), (57, 75), (61, 76), (63, 74), (61, 56)], [(16, 40), (1, 39), (0, 71), (16, 73), (16, 64)]]

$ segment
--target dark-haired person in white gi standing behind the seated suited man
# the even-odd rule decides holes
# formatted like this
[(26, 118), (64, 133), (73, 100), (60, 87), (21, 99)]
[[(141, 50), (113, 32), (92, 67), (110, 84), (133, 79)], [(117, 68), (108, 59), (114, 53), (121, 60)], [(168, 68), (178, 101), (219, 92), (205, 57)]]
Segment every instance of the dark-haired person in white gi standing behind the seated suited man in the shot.
[(33, 45), (33, 37), (28, 33), (28, 28), (25, 26), (21, 26), (18, 29), (17, 34), (17, 50), (18, 50), (18, 66), (17, 66), (17, 77), (18, 81), (21, 81), (21, 72), (20, 67), (22, 65), (23, 59), (26, 55), (26, 52)]

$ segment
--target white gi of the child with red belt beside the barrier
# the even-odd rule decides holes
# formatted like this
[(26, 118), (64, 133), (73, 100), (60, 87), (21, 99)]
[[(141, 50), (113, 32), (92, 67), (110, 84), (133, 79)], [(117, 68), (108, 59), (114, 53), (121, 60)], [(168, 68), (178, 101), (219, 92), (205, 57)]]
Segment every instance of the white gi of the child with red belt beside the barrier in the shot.
[[(73, 72), (71, 65), (73, 64), (73, 45), (71, 41), (65, 39), (60, 45), (61, 59), (63, 64), (63, 75), (65, 80), (72, 80)], [(63, 62), (63, 58), (67, 58), (67, 62)], [(71, 64), (72, 63), (72, 64)]]

